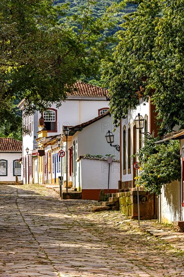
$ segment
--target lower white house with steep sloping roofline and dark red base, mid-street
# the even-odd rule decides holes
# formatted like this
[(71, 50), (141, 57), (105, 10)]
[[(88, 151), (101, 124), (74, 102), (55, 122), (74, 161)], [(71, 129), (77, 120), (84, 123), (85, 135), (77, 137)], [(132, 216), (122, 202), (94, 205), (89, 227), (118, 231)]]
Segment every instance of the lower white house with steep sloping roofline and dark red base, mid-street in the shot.
[[(64, 126), (63, 126), (64, 127)], [(65, 126), (66, 127), (66, 126)], [(106, 133), (113, 130), (113, 118), (109, 112), (91, 120), (68, 127), (68, 136), (47, 136), (47, 130), (41, 130), (38, 146), (44, 148), (43, 157), (33, 157), (33, 165), (39, 168), (39, 181), (46, 184), (58, 184), (59, 178), (68, 187), (82, 192), (82, 199), (98, 199), (101, 189), (105, 192), (117, 192), (120, 177), (119, 152), (106, 141)], [(58, 146), (58, 138), (61, 138)], [(119, 131), (114, 132), (114, 144), (119, 145)], [(59, 156), (59, 151), (67, 151), (68, 174), (66, 174), (66, 155)], [(112, 163), (108, 164), (108, 156)], [(67, 175), (67, 176), (66, 176)], [(36, 180), (37, 177), (35, 176)]]

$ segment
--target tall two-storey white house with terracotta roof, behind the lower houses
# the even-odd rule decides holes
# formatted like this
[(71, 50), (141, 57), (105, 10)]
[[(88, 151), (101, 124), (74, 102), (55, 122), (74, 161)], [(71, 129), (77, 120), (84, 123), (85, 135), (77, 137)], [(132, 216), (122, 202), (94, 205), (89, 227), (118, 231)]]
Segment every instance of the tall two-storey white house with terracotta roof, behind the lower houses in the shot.
[[(25, 105), (25, 100), (22, 100), (18, 105), (23, 111), (23, 182), (24, 184), (45, 183), (46, 180), (50, 180), (51, 183), (57, 183), (58, 176), (56, 173), (59, 175), (57, 155), (47, 153), (45, 157), (44, 149), (41, 148), (41, 138), (45, 136), (42, 132), (43, 128), (47, 131), (46, 136), (52, 138), (61, 134), (63, 125), (81, 124), (107, 112), (109, 109), (108, 91), (107, 89), (77, 82), (72, 95), (68, 94), (66, 101), (59, 108), (54, 104), (49, 108), (49, 111), (42, 114), (35, 112), (33, 115), (26, 115), (24, 112)], [(39, 150), (37, 149), (37, 143), (40, 146)], [(39, 159), (36, 156), (38, 153)], [(47, 159), (49, 165), (47, 172), (44, 171), (44, 159)], [(51, 174), (51, 168), (54, 168), (56, 173), (54, 171)], [(39, 173), (42, 171), (45, 173)]]

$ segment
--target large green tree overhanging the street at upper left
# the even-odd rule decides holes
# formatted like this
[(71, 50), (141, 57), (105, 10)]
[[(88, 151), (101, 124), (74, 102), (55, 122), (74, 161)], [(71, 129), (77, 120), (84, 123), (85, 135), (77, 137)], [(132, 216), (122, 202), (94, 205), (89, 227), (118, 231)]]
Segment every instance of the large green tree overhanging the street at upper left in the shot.
[(1, 110), (9, 112), (15, 97), (26, 99), (28, 112), (45, 110), (53, 102), (60, 105), (81, 75), (98, 72), (112, 43), (104, 31), (114, 26), (112, 16), (119, 7), (114, 4), (94, 18), (95, 4), (87, 1), (77, 15), (65, 17), (67, 4), (1, 1)]

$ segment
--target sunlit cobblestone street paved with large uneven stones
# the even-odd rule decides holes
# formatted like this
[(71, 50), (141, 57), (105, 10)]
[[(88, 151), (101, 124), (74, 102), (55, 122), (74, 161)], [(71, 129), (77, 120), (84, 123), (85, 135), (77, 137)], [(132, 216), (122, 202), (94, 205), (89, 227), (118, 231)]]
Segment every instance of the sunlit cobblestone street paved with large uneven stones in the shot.
[(35, 185), (1, 185), (1, 277), (184, 276), (183, 251), (132, 229), (94, 201)]

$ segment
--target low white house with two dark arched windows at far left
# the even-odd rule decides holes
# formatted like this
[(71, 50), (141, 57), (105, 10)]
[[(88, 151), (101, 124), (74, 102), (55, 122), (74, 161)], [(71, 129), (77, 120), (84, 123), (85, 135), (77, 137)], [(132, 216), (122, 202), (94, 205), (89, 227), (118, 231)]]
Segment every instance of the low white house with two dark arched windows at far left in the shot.
[(0, 183), (21, 181), (22, 142), (11, 137), (0, 137)]

